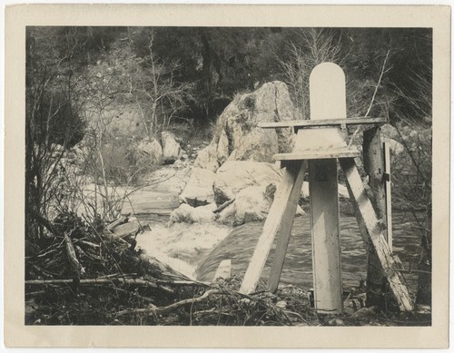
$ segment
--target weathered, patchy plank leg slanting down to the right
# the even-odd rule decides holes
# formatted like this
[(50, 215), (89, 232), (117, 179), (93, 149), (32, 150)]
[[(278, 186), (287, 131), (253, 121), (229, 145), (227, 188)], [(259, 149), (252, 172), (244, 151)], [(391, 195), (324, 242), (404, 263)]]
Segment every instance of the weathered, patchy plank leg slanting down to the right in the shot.
[(340, 159), (342, 171), (345, 173), (347, 188), (350, 193), (350, 200), (353, 204), (357, 221), (360, 224), (360, 230), (365, 232), (363, 239), (371, 242), (380, 265), (383, 269), (390, 289), (397, 300), (400, 310), (411, 310), (411, 299), (409, 291), (405, 285), (404, 279), (400, 274), (399, 263), (391, 254), (388, 242), (385, 240), (381, 224), (377, 220), (375, 211), (370, 203), (369, 197), (362, 186), (360, 173), (356, 167), (354, 159)]

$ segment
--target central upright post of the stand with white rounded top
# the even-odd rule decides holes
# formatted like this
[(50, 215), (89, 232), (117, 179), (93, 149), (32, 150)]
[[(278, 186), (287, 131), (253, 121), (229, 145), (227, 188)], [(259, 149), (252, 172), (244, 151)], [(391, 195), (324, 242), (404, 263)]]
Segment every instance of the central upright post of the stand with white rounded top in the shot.
[[(332, 63), (317, 65), (310, 76), (311, 120), (346, 118), (345, 75)], [(322, 129), (325, 149), (344, 144), (339, 128)], [(336, 159), (309, 163), (314, 306), (319, 312), (342, 312), (341, 240)]]

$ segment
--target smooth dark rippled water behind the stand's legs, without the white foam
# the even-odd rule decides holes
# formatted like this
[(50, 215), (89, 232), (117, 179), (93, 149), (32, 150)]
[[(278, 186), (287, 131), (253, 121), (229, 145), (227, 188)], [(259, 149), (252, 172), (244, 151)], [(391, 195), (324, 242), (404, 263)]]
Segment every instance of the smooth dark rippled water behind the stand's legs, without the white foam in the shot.
[[(252, 258), (262, 226), (262, 222), (247, 223), (233, 229), (199, 265), (196, 270), (197, 278), (212, 280), (219, 263), (226, 259), (232, 260), (232, 274), (244, 272)], [(405, 269), (414, 269), (414, 264), (419, 257), (420, 240), (416, 228), (417, 222), (412, 214), (405, 212), (393, 214), (393, 250), (400, 257)], [(276, 240), (262, 272), (263, 279), (269, 276), (275, 246)], [(341, 250), (343, 287), (344, 289), (357, 287), (361, 279), (366, 279), (367, 257), (358, 223), (354, 217), (341, 217)], [(407, 279), (410, 291), (414, 292), (415, 275), (404, 273), (404, 277)], [(294, 221), (281, 283), (306, 289), (312, 287), (311, 229), (308, 214)]]

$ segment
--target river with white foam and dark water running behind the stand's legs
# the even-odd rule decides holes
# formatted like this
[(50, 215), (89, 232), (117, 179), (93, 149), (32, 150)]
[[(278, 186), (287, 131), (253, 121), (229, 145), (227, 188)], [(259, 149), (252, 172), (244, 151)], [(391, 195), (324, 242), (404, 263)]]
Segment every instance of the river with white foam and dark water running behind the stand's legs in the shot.
[[(420, 215), (422, 217), (422, 215)], [(152, 222), (152, 231), (138, 237), (138, 245), (151, 256), (166, 262), (184, 275), (200, 280), (212, 280), (222, 260), (232, 260), (232, 274), (243, 273), (261, 234), (263, 222), (247, 223), (236, 228), (216, 224), (168, 225), (168, 217), (143, 214), (141, 219)], [(419, 231), (410, 212), (393, 213), (393, 251), (405, 269), (415, 269), (419, 259)], [(276, 241), (262, 272), (269, 276)], [(367, 257), (357, 221), (341, 216), (341, 268), (344, 289), (357, 287), (366, 279)], [(410, 292), (417, 289), (416, 275), (403, 273)], [(297, 217), (281, 275), (282, 284), (303, 289), (312, 287), (311, 229), (309, 214)]]

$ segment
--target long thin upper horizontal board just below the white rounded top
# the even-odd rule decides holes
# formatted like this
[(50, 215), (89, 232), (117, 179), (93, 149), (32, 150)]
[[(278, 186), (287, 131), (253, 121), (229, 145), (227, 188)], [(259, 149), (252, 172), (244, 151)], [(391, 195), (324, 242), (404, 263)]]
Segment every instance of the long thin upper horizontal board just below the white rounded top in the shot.
[[(360, 124), (382, 124), (388, 123), (388, 119), (385, 117), (379, 118), (341, 118), (340, 119), (324, 119), (324, 120), (289, 120), (286, 122), (275, 122), (275, 123), (259, 123), (258, 126), (262, 129), (276, 129), (276, 128), (304, 128), (304, 127), (316, 127), (316, 126), (341, 126), (341, 125), (360, 125)], [(320, 118), (319, 118), (320, 119)]]

